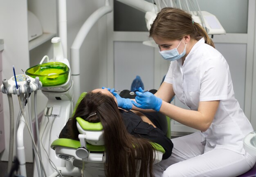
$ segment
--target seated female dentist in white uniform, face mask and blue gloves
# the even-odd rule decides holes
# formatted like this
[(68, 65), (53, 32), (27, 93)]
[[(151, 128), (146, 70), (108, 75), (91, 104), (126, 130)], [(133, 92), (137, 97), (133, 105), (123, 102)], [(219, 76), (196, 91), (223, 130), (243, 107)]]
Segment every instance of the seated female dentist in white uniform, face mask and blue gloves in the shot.
[[(154, 109), (199, 130), (172, 139), (173, 153), (154, 166), (155, 176), (236, 177), (250, 170), (256, 157), (244, 150), (243, 138), (253, 128), (235, 98), (229, 65), (204, 29), (190, 14), (164, 8), (150, 37), (171, 61), (165, 80), (155, 95), (139, 89), (133, 106), (113, 93), (118, 104)], [(191, 110), (170, 104), (174, 95)]]

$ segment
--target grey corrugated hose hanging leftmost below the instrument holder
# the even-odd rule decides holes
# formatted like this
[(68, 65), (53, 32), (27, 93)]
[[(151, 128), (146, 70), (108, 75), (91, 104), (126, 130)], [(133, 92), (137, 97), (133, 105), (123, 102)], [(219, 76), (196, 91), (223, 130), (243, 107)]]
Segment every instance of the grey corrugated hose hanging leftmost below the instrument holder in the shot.
[(7, 174), (11, 171), (11, 165), (13, 161), (13, 139), (14, 139), (14, 110), (13, 110), (13, 100), (11, 94), (7, 94), (10, 110), (10, 142), (9, 142), (9, 159), (7, 166)]

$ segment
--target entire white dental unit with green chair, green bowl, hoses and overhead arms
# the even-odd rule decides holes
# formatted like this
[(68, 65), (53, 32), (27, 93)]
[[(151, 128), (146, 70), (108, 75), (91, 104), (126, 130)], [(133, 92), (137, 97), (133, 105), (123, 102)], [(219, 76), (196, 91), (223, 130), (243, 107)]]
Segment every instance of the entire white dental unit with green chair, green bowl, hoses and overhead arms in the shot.
[[(177, 7), (190, 11), (195, 22), (204, 27), (209, 35), (225, 34), (218, 19), (211, 13), (200, 11), (196, 0), (117, 0), (127, 4), (139, 11), (145, 13), (146, 27), (150, 29), (155, 20), (157, 12), (167, 6)], [(16, 75), (13, 66), (13, 75), (9, 80), (4, 79), (1, 85), (2, 93), (7, 94), (10, 108), (10, 150), (8, 171), (11, 168), (13, 159), (13, 141), (14, 140), (14, 114), (12, 95), (17, 95), (20, 112), (16, 122), (16, 153), (20, 161), (20, 175), (27, 176), (26, 160), (23, 141), (23, 132), (25, 126), (29, 130), (33, 142), (34, 157), (34, 177), (57, 177), (57, 176), (85, 176), (85, 177), (104, 177), (104, 164), (106, 154), (104, 154), (103, 130), (99, 124), (87, 124), (83, 119), (76, 118), (79, 130), (79, 141), (72, 139), (58, 139), (61, 129), (72, 116), (75, 109), (75, 103), (85, 96), (85, 92), (80, 91), (80, 69), (79, 69), (79, 50), (85, 40), (86, 35), (92, 26), (103, 15), (110, 13), (112, 8), (108, 0), (105, 6), (101, 7), (84, 22), (71, 46), (70, 62), (67, 60), (67, 29), (66, 29), (66, 3), (59, 0), (59, 36), (52, 38), (54, 46), (54, 56), (49, 60), (44, 56), (41, 62), (27, 69), (23, 74)], [(148, 46), (156, 47), (152, 41), (144, 41)], [(72, 71), (72, 73), (71, 73)], [(75, 86), (74, 86), (75, 85)], [(36, 94), (38, 90), (48, 98), (44, 109), (43, 117), (38, 122), (36, 111)], [(121, 90), (115, 90), (120, 92)], [(147, 92), (149, 90), (145, 90)], [(36, 133), (33, 134), (33, 125), (31, 119), (30, 98), (34, 93), (34, 113), (36, 122)], [(130, 92), (130, 95), (135, 95)], [(25, 106), (28, 106), (28, 114), (25, 113)], [(27, 122), (27, 115), (29, 122)], [(255, 132), (247, 137), (244, 146), (255, 153)], [(37, 142), (35, 141), (37, 140)], [(249, 144), (249, 145), (248, 145)], [(155, 162), (162, 160), (164, 149), (154, 144)], [(91, 153), (93, 152), (93, 153)], [(95, 153), (96, 152), (96, 153)]]

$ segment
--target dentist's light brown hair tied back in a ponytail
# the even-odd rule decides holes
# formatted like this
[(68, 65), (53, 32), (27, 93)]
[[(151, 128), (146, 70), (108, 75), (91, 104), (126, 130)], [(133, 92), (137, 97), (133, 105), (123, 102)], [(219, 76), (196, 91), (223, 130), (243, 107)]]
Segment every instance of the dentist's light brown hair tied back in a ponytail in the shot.
[(168, 40), (181, 40), (185, 35), (190, 35), (192, 39), (202, 36), (206, 44), (215, 47), (204, 28), (193, 21), (191, 14), (181, 9), (163, 8), (149, 30), (149, 37), (157, 36)]

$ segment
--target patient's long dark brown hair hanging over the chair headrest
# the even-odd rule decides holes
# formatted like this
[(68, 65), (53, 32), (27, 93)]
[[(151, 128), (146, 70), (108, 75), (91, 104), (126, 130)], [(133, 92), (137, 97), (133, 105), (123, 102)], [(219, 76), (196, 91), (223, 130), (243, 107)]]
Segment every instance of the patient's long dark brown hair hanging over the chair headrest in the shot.
[(152, 145), (146, 139), (128, 133), (112, 97), (100, 92), (86, 94), (71, 118), (74, 130), (77, 131), (75, 117), (86, 119), (94, 113), (96, 115), (91, 116), (87, 121), (100, 121), (103, 126), (106, 147), (105, 175), (135, 177), (136, 171), (139, 171), (139, 177), (147, 177), (149, 169), (150, 177), (153, 177)]

